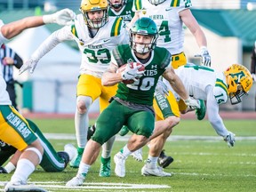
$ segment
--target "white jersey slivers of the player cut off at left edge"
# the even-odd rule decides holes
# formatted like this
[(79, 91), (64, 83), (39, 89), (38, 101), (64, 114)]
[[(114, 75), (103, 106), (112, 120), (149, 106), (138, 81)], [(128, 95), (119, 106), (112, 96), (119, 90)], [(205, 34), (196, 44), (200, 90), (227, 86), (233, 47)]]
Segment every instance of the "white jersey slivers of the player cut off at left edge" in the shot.
[[(0, 20), (0, 46), (7, 40), (1, 32), (1, 28), (3, 25), (4, 25), (3, 21)], [(1, 65), (1, 68), (2, 68), (2, 65)], [(9, 94), (6, 91), (6, 83), (4, 81), (2, 69), (0, 70), (0, 86), (1, 86), (1, 88), (0, 88), (0, 105), (12, 105)]]

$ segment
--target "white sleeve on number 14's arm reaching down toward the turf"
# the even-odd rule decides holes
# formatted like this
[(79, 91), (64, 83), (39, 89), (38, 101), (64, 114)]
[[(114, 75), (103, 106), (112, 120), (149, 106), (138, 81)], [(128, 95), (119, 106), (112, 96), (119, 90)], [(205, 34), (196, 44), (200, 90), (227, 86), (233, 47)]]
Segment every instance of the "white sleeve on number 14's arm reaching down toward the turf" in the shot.
[(219, 114), (219, 105), (213, 96), (212, 87), (208, 87), (206, 108), (208, 119), (212, 124), (213, 129), (218, 135), (225, 137), (228, 135), (228, 130), (223, 124), (222, 118)]

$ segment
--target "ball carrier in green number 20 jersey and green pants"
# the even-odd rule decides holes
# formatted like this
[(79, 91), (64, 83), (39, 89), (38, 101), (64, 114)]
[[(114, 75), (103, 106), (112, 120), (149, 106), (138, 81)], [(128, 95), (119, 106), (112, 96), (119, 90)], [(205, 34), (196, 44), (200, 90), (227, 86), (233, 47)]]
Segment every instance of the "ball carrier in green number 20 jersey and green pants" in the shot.
[[(116, 175), (125, 176), (126, 158), (132, 151), (145, 145), (154, 130), (155, 116), (152, 106), (159, 76), (163, 75), (189, 105), (198, 107), (196, 100), (188, 97), (180, 78), (169, 65), (171, 53), (165, 48), (156, 47), (156, 23), (149, 18), (136, 20), (130, 30), (130, 36), (130, 44), (118, 45), (113, 50), (112, 62), (102, 76), (102, 84), (118, 84), (116, 96), (98, 117), (95, 133), (84, 149), (76, 177), (67, 182), (68, 187), (83, 184), (91, 165), (100, 153), (100, 146), (119, 132), (124, 124), (134, 134), (128, 140), (128, 144), (114, 156), (114, 161)], [(144, 71), (139, 70), (140, 66), (131, 68), (131, 62), (144, 65)], [(118, 70), (125, 64), (123, 70)], [(135, 80), (133, 84), (122, 83), (124, 80), (132, 79)]]

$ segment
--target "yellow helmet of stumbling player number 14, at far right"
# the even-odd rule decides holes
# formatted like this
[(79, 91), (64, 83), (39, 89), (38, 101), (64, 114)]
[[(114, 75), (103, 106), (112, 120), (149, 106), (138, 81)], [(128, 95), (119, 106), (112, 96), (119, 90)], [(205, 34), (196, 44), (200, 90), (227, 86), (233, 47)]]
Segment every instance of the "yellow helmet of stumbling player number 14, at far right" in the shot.
[(232, 105), (241, 102), (241, 98), (248, 94), (252, 87), (252, 75), (247, 68), (233, 64), (224, 71), (228, 84), (228, 96)]

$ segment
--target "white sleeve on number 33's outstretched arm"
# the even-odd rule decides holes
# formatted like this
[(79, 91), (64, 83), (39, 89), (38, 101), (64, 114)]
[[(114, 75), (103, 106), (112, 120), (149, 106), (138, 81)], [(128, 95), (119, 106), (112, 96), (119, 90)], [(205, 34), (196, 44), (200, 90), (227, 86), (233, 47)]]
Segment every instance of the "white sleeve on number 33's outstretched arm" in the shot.
[(32, 60), (40, 60), (47, 52), (50, 52), (57, 44), (60, 44), (60, 42), (72, 39), (73, 35), (70, 32), (70, 26), (60, 28), (44, 40), (43, 44), (36, 49), (31, 58)]

